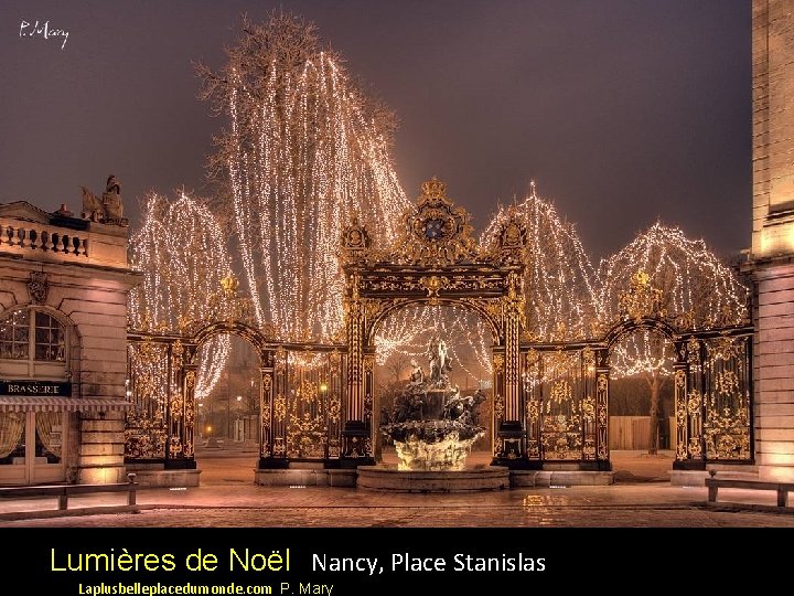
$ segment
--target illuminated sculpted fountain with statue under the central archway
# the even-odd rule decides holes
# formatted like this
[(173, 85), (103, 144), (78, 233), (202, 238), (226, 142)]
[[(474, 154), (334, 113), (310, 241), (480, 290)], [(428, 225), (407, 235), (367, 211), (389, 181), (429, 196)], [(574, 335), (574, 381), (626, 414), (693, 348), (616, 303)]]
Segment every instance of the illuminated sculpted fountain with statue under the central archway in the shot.
[(452, 385), (447, 343), (433, 337), (428, 347), (430, 372), (411, 361), (409, 381), (394, 400), (380, 432), (397, 450), (399, 470), (463, 470), (471, 446), (485, 434), (478, 409), (485, 395), (461, 395)]

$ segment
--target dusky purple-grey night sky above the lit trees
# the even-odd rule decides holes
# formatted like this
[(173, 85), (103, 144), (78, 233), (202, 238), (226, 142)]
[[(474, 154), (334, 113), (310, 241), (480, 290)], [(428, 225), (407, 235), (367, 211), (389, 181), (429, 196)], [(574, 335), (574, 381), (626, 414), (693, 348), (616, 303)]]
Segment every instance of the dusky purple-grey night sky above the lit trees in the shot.
[[(78, 212), (114, 173), (135, 226), (148, 190), (206, 194), (224, 121), (192, 62), (221, 66), (240, 14), (273, 8), (397, 114), (409, 199), (437, 175), (480, 231), (535, 180), (594, 260), (657, 220), (750, 244), (750, 0), (2, 0), (0, 202)], [(36, 20), (65, 45), (20, 36)]]

